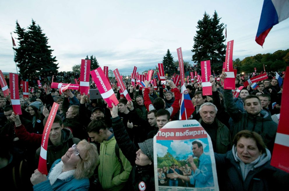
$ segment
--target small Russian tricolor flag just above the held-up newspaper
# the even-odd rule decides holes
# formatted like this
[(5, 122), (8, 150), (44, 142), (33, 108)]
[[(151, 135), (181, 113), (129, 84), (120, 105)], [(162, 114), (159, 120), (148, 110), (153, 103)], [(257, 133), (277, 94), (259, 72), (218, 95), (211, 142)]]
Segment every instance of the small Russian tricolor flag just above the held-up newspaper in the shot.
[(179, 119), (187, 120), (191, 116), (191, 114), (195, 111), (195, 107), (184, 85), (181, 87), (181, 89), (184, 91), (182, 91), (183, 93), (181, 95), (181, 110)]

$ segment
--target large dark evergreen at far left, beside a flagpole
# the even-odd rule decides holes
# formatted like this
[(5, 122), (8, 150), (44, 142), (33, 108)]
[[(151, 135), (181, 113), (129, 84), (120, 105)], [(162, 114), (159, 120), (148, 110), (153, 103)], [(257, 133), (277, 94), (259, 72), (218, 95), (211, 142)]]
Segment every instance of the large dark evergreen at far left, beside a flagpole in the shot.
[(18, 35), (19, 47), (15, 50), (15, 61), (24, 79), (35, 76), (46, 76), (47, 73), (56, 74), (59, 68), (52, 57), (52, 49), (48, 45), (48, 38), (39, 25), (32, 20), (32, 24), (22, 29), (16, 21), (15, 33)]

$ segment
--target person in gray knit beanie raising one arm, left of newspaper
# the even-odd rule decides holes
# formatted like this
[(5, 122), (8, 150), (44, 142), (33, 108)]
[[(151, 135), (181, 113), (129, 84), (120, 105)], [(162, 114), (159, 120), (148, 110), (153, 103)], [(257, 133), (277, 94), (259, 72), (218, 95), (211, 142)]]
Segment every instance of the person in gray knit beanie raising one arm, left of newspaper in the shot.
[(127, 190), (155, 190), (154, 182), (154, 139), (138, 143), (139, 148), (129, 139), (126, 128), (118, 116), (118, 106), (112, 103), (110, 113), (114, 137), (133, 167), (128, 178)]

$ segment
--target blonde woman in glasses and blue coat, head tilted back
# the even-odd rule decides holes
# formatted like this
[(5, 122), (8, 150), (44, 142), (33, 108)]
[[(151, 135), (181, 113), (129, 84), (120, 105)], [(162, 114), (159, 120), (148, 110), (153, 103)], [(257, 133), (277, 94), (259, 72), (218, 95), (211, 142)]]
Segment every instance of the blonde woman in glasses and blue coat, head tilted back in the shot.
[(30, 181), (34, 185), (33, 189), (40, 191), (88, 190), (88, 178), (98, 162), (96, 145), (82, 140), (53, 163), (47, 177), (36, 169)]

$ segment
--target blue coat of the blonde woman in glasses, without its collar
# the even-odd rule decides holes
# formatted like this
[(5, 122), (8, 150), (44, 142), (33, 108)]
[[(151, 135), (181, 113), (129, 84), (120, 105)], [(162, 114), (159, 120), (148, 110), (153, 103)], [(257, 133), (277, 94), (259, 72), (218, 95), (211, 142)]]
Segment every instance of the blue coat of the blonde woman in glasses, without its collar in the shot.
[[(57, 159), (51, 169), (57, 165), (61, 159)], [(50, 172), (51, 172), (50, 169)], [(50, 173), (49, 172), (49, 173)], [(48, 174), (49, 175), (49, 174)], [(47, 176), (49, 177), (49, 176)], [(39, 184), (36, 184), (33, 186), (33, 190), (35, 191), (50, 191), (50, 190), (59, 190), (59, 191), (72, 191), (72, 190), (88, 190), (89, 189), (89, 179), (88, 178), (82, 178), (82, 179), (76, 179), (74, 177), (69, 177), (65, 181), (57, 179), (53, 185), (50, 184), (49, 179), (47, 181), (41, 182)]]

